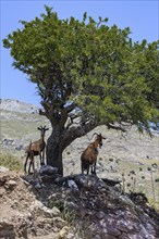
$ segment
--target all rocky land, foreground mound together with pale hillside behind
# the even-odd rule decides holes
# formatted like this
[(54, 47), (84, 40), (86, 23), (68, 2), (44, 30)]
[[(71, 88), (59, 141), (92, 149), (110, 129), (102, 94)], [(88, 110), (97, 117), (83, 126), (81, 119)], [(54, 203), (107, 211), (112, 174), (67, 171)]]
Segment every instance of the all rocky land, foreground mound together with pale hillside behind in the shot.
[[(35, 105), (1, 100), (0, 165), (4, 166), (5, 153), (23, 164), (25, 147), (39, 138), (40, 125), (49, 127), (47, 140), (50, 124)], [(99, 151), (97, 177), (81, 175), (81, 153), (95, 131), (107, 137)], [(151, 139), (138, 135), (135, 127), (122, 135), (101, 126), (65, 149), (64, 177), (47, 166), (35, 176), (1, 167), (0, 238), (159, 238), (158, 159), (158, 133)]]

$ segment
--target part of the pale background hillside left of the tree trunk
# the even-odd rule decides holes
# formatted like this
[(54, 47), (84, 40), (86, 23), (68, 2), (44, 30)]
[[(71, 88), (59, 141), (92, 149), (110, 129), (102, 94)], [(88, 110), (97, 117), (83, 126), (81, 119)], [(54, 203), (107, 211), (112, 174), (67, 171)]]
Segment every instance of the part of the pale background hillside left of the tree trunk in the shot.
[(17, 100), (1, 100), (1, 147), (16, 155), (24, 155), (26, 146), (39, 138), (37, 127), (49, 125), (46, 117), (39, 116), (39, 109)]

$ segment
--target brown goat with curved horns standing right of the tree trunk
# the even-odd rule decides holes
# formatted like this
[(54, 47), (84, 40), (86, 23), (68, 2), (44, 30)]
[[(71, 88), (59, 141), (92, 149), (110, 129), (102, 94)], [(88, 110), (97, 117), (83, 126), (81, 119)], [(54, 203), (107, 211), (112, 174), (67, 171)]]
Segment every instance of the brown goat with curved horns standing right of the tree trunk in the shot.
[(97, 135), (96, 140), (94, 142), (90, 142), (81, 155), (82, 174), (84, 174), (84, 171), (87, 171), (88, 175), (89, 166), (91, 165), (91, 174), (96, 175), (96, 162), (99, 154), (98, 147), (101, 148), (102, 139), (106, 138), (101, 136), (101, 134), (98, 135), (97, 133), (95, 133), (94, 135)]

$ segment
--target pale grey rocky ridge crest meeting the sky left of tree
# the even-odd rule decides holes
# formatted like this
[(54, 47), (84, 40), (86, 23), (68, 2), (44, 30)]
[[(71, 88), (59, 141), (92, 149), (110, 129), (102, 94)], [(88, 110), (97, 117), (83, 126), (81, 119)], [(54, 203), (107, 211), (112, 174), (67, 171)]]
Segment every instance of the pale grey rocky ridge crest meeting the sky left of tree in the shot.
[(4, 111), (37, 114), (38, 108), (30, 103), (21, 102), (14, 99), (0, 99), (0, 109)]

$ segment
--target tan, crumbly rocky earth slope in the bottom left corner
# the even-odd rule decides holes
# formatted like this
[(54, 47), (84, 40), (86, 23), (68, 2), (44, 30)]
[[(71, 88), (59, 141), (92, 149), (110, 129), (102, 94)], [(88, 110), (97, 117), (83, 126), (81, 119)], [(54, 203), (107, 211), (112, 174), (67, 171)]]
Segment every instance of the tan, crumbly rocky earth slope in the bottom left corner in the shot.
[[(33, 176), (32, 176), (33, 178)], [(32, 179), (35, 180), (34, 178)], [(0, 238), (54, 238), (68, 222), (58, 207), (36, 198), (36, 187), (13, 172), (0, 174)]]

